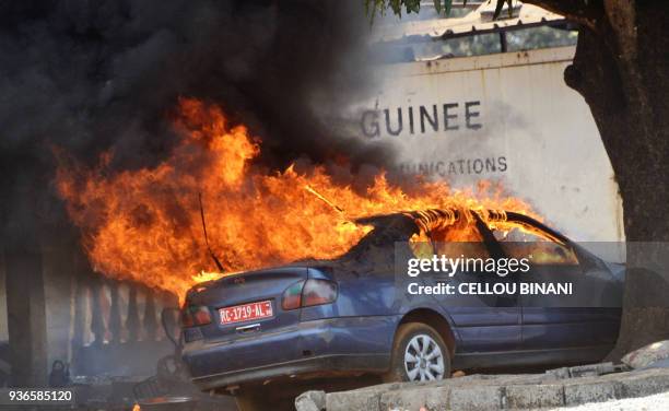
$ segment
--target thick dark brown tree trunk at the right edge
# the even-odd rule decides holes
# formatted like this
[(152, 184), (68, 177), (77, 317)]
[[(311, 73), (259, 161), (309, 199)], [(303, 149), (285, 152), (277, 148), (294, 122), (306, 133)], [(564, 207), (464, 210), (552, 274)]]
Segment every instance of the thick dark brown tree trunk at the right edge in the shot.
[(669, 267), (634, 269), (660, 258), (662, 249), (669, 253), (667, 244), (658, 244), (669, 242), (669, 2), (529, 2), (582, 24), (565, 82), (590, 106), (611, 160), (623, 201), (627, 266), (633, 268), (618, 345), (610, 355), (617, 360), (669, 339)]

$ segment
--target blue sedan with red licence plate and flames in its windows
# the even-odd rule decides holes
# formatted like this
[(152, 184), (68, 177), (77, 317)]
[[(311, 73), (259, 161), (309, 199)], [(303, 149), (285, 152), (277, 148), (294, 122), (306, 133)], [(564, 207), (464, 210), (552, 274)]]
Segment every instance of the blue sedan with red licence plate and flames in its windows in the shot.
[[(602, 261), (535, 219), (453, 209), (357, 223), (373, 230), (339, 258), (193, 286), (181, 309), (183, 359), (193, 383), (202, 390), (244, 394), (245, 387), (290, 378), (434, 380), (454, 369), (596, 362), (617, 340), (623, 267)], [(580, 281), (577, 287), (588, 302), (555, 304), (541, 295), (403, 298), (395, 272), (397, 247), (415, 255), (425, 245), (430, 253), (443, 253), (441, 244), (456, 243), (468, 245), (468, 254), (492, 258), (532, 254), (533, 279)], [(473, 274), (461, 272), (450, 281), (489, 281)]]

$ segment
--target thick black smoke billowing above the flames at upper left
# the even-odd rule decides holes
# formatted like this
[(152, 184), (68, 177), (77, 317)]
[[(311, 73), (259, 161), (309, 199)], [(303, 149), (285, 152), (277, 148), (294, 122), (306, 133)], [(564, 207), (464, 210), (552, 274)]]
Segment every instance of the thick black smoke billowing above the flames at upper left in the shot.
[(87, 164), (114, 149), (113, 169), (161, 161), (179, 96), (249, 126), (269, 168), (345, 158), (364, 174), (387, 164), (389, 152), (324, 121), (368, 80), (368, 30), (359, 0), (0, 1), (5, 227), (67, 228), (55, 145)]

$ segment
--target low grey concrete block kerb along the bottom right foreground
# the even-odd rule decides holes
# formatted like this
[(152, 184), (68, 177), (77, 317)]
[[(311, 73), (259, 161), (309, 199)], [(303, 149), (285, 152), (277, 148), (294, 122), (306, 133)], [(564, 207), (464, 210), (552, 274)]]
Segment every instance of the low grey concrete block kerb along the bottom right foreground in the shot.
[[(578, 368), (583, 367), (572, 367)], [(342, 392), (305, 392), (297, 411), (486, 411), (574, 407), (669, 391), (669, 368), (591, 373), (571, 376), (568, 368), (544, 374), (469, 375), (434, 383), (385, 384)], [(602, 375), (603, 374), (603, 375)], [(325, 408), (324, 408), (325, 407)]]

